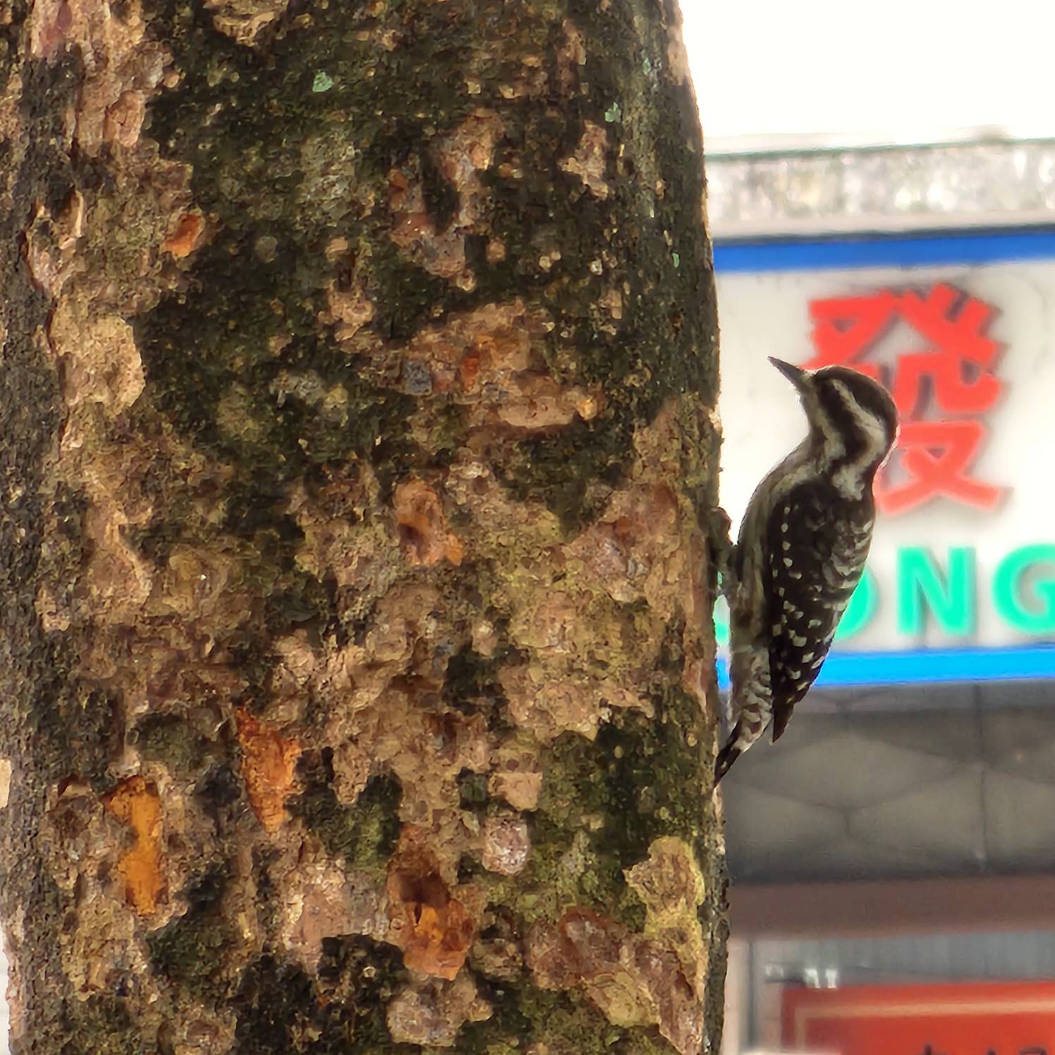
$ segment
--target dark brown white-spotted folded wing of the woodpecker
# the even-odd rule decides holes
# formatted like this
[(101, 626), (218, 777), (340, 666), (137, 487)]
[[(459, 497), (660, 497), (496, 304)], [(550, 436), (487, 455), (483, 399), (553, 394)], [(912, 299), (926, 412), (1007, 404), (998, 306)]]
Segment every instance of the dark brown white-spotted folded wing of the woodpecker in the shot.
[(768, 557), (773, 740), (821, 671), (871, 539), (871, 496), (847, 503), (824, 481), (793, 486), (774, 506)]

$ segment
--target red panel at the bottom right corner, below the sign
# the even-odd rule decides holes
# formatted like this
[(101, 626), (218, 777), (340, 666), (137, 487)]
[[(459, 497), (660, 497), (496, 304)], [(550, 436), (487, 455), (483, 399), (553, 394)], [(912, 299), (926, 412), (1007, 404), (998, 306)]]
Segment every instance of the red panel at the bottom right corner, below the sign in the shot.
[(783, 1029), (830, 1055), (1055, 1055), (1055, 983), (788, 989)]

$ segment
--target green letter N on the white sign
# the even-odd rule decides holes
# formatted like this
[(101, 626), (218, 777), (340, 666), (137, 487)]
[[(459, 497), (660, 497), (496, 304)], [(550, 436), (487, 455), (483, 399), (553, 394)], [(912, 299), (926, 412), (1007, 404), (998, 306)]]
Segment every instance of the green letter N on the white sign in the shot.
[(948, 574), (942, 576), (926, 550), (910, 546), (898, 551), (898, 631), (921, 634), (923, 606), (946, 634), (963, 636), (975, 629), (975, 551), (953, 546), (948, 551)]

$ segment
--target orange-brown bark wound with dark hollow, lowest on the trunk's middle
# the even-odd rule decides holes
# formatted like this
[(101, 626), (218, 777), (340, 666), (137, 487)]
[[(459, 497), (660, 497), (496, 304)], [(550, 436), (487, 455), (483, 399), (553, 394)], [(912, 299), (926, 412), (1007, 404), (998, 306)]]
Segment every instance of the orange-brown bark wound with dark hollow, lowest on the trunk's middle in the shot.
[(468, 956), (476, 921), (452, 896), (428, 849), (410, 845), (388, 869), (390, 940), (403, 951), (403, 963), (437, 978), (453, 979)]

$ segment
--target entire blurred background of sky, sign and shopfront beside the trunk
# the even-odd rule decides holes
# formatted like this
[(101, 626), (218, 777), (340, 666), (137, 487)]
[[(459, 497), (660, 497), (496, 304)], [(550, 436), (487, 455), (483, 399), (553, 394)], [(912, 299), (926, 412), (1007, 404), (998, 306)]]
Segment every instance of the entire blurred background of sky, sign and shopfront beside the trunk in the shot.
[(1055, 1055), (1055, 6), (683, 13), (726, 509), (804, 435), (767, 356), (903, 422), (822, 680), (723, 783), (725, 1055)]

